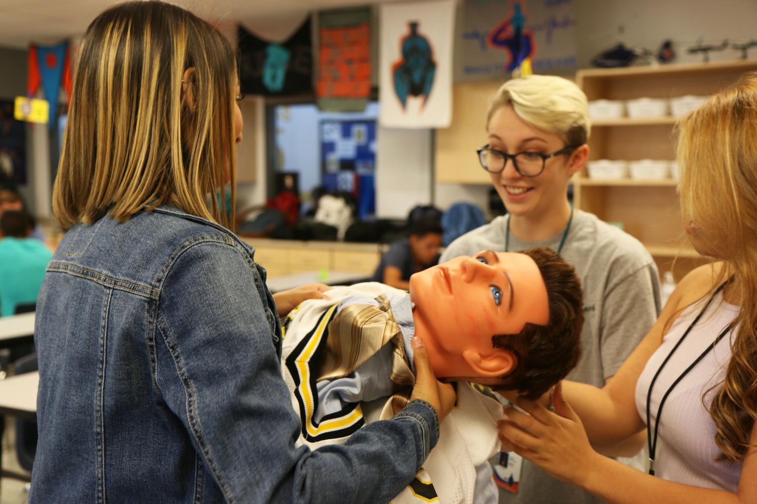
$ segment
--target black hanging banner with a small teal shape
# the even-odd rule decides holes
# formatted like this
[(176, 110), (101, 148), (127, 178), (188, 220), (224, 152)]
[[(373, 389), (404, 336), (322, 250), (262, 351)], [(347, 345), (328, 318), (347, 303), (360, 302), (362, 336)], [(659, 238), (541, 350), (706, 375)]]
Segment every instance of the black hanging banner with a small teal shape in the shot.
[(285, 41), (260, 39), (241, 25), (238, 36), (241, 92), (285, 96), (313, 89), (310, 17)]

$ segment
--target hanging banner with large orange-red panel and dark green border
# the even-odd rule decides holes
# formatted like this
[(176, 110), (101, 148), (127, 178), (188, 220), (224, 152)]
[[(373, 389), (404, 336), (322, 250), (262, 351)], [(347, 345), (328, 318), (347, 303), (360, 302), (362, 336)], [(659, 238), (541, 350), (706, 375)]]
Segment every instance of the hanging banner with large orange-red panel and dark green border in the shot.
[(371, 95), (371, 11), (318, 14), (318, 107), (329, 112), (365, 110)]

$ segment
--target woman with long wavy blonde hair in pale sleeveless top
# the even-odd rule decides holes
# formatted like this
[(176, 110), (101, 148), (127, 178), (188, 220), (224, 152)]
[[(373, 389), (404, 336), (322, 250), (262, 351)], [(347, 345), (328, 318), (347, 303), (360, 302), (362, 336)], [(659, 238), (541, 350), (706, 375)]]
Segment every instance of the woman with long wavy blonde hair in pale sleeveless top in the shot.
[[(605, 388), (563, 382), (554, 413), (518, 400), (529, 415), (506, 409), (500, 438), (606, 502), (757, 502), (757, 73), (682, 120), (678, 162), (687, 233), (715, 262)], [(592, 449), (644, 428), (650, 474)]]

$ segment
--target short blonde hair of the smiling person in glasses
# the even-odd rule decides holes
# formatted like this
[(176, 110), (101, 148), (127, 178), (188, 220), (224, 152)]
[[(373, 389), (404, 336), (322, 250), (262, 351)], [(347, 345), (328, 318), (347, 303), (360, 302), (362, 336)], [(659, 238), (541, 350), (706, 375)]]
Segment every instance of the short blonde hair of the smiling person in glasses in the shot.
[(528, 76), (505, 82), (489, 103), (487, 128), (491, 116), (506, 105), (535, 128), (562, 135), (569, 146), (578, 147), (589, 140), (591, 122), (586, 94), (568, 79)]

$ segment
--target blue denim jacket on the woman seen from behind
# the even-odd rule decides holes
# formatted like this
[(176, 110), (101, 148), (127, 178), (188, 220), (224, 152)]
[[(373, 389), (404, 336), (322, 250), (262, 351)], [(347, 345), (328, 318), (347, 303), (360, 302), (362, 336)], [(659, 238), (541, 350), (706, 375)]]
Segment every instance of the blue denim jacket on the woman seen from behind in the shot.
[(281, 328), (254, 249), (173, 207), (72, 227), (37, 303), (30, 502), (389, 502), (438, 439), (413, 401), (295, 447)]

